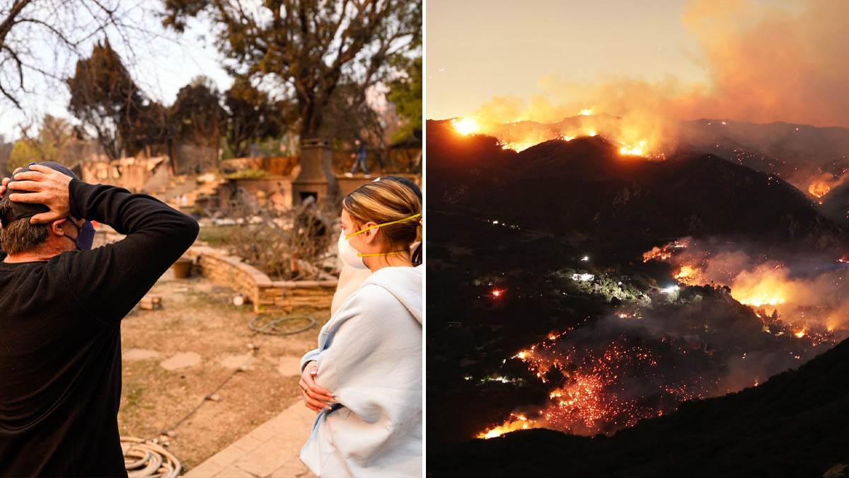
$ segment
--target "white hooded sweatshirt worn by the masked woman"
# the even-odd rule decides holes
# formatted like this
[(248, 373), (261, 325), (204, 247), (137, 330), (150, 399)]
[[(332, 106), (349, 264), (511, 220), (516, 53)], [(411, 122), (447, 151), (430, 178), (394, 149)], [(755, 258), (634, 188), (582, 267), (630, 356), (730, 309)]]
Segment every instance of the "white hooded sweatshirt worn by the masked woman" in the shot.
[(318, 413), (301, 461), (320, 477), (420, 476), (422, 269), (385, 267), (363, 282), (318, 335), (316, 383), (335, 394)]

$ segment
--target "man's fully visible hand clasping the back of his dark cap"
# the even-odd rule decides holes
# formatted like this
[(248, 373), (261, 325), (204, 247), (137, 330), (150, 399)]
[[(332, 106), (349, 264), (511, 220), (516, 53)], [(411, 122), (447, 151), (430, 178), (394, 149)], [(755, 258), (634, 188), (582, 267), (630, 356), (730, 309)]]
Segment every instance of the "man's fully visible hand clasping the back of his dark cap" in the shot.
[[(20, 169), (20, 168), (19, 168)], [(9, 200), (16, 202), (38, 202), (50, 210), (32, 216), (31, 224), (46, 224), (63, 219), (70, 213), (70, 176), (59, 173), (53, 168), (32, 164), (30, 171), (18, 173), (15, 169), (12, 181), (8, 183), (9, 191), (27, 191), (27, 194), (12, 193)]]

